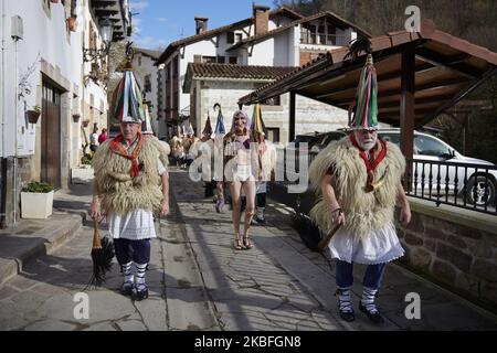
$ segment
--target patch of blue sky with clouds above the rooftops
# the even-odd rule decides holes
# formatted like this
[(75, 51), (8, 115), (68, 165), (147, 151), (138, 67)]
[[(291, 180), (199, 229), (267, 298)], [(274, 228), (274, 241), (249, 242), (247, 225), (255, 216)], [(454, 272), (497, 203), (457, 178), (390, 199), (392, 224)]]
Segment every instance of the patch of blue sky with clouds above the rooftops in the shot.
[[(274, 8), (273, 0), (254, 0)], [(194, 17), (209, 18), (208, 30), (252, 17), (252, 0), (130, 0), (135, 46), (165, 49), (195, 34)]]

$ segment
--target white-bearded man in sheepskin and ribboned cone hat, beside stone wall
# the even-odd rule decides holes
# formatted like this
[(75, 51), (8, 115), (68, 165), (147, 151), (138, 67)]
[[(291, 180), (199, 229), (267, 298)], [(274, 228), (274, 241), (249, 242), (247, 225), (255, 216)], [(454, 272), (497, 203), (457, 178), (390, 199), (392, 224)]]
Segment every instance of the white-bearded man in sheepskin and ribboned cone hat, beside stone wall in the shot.
[(381, 324), (384, 319), (374, 298), (387, 264), (404, 254), (393, 225), (395, 202), (403, 225), (410, 222), (411, 211), (401, 184), (405, 159), (395, 145), (378, 139), (377, 81), (370, 54), (353, 110), (350, 135), (331, 142), (309, 167), (311, 185), (321, 195), (310, 216), (321, 229), (339, 227), (329, 250), (337, 259), (340, 317), (355, 320), (350, 297), (352, 266), (364, 264), (368, 267), (359, 310)]

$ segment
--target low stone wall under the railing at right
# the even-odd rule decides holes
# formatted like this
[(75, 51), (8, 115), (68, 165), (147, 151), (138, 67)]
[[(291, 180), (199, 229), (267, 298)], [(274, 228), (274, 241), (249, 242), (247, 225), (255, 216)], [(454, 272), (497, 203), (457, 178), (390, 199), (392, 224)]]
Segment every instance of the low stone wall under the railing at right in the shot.
[(396, 224), (406, 250), (401, 263), (497, 311), (497, 217), (415, 202), (411, 207), (409, 226)]

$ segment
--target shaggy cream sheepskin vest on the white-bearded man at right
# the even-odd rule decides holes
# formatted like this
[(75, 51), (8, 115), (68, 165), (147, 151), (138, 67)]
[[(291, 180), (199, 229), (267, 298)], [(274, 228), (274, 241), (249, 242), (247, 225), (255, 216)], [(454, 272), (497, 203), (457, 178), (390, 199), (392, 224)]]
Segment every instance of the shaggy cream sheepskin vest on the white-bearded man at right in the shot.
[(322, 200), (320, 182), (327, 171), (334, 170), (334, 190), (342, 210), (349, 234), (366, 237), (393, 222), (398, 185), (405, 170), (405, 159), (400, 149), (387, 142), (387, 156), (374, 170), (374, 181), (384, 175), (384, 183), (373, 192), (367, 193), (367, 170), (359, 150), (349, 137), (331, 142), (309, 167), (311, 186), (316, 190), (318, 202), (310, 211), (310, 217), (321, 229), (332, 227), (329, 206)]

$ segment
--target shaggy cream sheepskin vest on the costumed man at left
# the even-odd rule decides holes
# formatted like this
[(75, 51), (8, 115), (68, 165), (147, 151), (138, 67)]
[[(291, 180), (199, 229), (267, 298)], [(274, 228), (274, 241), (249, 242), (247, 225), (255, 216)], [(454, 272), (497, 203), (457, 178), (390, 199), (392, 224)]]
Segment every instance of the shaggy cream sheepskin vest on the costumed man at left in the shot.
[(157, 211), (162, 201), (157, 160), (168, 165), (167, 149), (156, 137), (142, 137), (138, 154), (140, 174), (131, 178), (131, 161), (114, 153), (110, 141), (101, 145), (93, 157), (95, 179), (98, 183), (102, 208), (126, 214), (137, 208)]

